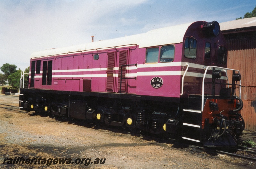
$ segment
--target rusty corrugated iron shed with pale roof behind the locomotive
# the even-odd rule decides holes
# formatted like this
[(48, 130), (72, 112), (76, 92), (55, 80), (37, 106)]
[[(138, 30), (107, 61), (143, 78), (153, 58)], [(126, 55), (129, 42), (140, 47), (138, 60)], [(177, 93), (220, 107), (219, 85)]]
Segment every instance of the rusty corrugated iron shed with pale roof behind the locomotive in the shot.
[(245, 129), (256, 131), (256, 17), (223, 22), (220, 29), (227, 41), (228, 68), (242, 76)]

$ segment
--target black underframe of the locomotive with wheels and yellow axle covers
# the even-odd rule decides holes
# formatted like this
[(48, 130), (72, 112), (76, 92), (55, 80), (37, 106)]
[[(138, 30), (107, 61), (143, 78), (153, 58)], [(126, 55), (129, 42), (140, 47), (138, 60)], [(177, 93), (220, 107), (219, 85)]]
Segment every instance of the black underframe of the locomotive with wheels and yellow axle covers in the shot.
[[(215, 119), (204, 117), (203, 113), (184, 111), (200, 109), (201, 105), (195, 103), (201, 97), (191, 95), (189, 98), (155, 98), (119, 93), (21, 89), (20, 107), (26, 111), (83, 119), (87, 123), (128, 127), (135, 133), (147, 131), (205, 146), (235, 147), (234, 135), (239, 133), (242, 124), (239, 115), (228, 115), (229, 112), (226, 112), (226, 126), (223, 130), (223, 124), (218, 126)], [(224, 105), (229, 103), (233, 106), (236, 102), (232, 98), (204, 96), (207, 111), (215, 112), (216, 119), (220, 119), (218, 108), (207, 105), (214, 99), (227, 100)], [(220, 130), (223, 132), (222, 136), (215, 136)]]

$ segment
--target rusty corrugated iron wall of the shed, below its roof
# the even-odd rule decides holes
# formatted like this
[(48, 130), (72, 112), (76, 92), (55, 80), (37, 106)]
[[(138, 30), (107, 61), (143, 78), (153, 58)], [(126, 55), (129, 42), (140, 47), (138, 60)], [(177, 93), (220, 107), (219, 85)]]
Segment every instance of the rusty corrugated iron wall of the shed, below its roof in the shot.
[[(228, 68), (240, 70), (242, 76), (241, 114), (245, 129), (256, 131), (256, 31), (226, 34)], [(228, 75), (231, 77), (232, 75)], [(237, 90), (236, 90), (237, 91)], [(238, 95), (238, 93), (236, 94)]]

